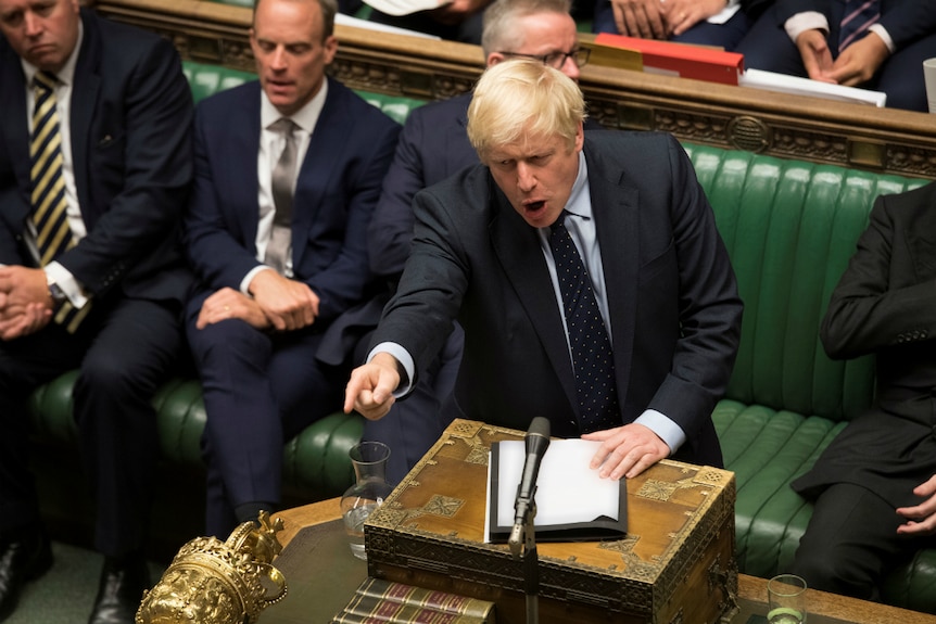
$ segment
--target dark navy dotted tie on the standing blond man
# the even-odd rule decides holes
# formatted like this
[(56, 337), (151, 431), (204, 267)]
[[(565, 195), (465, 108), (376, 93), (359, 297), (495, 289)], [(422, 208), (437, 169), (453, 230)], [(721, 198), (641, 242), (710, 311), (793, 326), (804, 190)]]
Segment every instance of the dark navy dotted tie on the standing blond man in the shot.
[(566, 229), (564, 221), (567, 215), (564, 211), (551, 226), (549, 246), (556, 262), (562, 311), (572, 349), (575, 393), (581, 408), (579, 428), (582, 433), (589, 433), (619, 426), (621, 417), (618, 413), (611, 341), (595, 301), (592, 280)]

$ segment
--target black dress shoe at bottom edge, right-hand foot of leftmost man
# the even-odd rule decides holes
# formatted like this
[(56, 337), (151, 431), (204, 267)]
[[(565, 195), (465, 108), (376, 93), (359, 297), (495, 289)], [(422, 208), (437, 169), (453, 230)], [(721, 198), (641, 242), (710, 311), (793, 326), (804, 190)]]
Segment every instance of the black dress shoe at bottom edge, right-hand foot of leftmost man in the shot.
[(134, 624), (149, 588), (150, 572), (142, 556), (106, 557), (88, 624)]

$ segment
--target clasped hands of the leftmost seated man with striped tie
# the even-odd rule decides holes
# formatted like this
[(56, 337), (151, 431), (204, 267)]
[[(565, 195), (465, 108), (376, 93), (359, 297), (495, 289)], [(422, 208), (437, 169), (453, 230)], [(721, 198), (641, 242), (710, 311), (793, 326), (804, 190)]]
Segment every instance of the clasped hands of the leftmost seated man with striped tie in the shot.
[(39, 331), (52, 319), (53, 305), (46, 271), (12, 265), (0, 267), (0, 340)]

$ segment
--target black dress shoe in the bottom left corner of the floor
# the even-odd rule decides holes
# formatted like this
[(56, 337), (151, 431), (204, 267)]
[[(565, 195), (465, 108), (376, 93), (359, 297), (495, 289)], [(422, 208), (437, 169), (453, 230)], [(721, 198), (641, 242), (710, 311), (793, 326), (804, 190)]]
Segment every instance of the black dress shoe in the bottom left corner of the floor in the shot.
[(49, 537), (40, 527), (0, 543), (0, 622), (16, 609), (20, 591), (52, 566)]

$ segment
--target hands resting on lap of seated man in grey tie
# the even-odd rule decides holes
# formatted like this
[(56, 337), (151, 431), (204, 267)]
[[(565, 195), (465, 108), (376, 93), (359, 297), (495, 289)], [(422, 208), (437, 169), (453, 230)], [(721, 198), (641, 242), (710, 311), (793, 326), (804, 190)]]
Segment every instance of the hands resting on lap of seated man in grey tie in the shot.
[(266, 269), (251, 280), (250, 295), (230, 288), (212, 293), (195, 327), (237, 318), (260, 330), (294, 331), (315, 322), (318, 305), (318, 295), (307, 284)]

